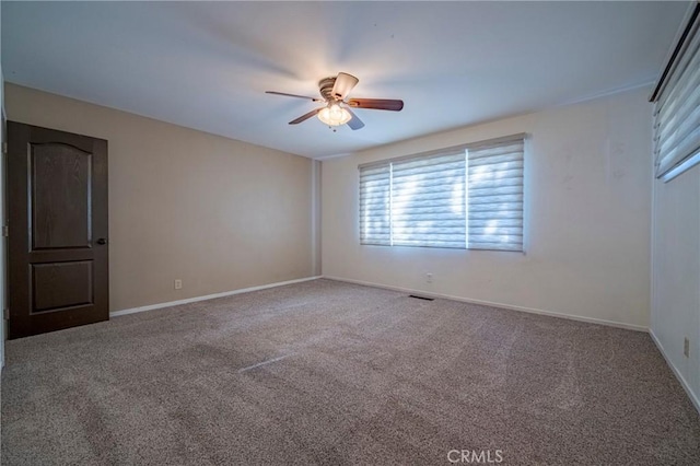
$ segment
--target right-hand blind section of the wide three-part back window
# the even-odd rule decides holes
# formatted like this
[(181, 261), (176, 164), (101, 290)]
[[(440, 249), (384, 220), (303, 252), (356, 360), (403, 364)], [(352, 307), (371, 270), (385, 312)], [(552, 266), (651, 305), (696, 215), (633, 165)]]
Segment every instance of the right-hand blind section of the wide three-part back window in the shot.
[(468, 151), (470, 249), (523, 251), (523, 140)]

